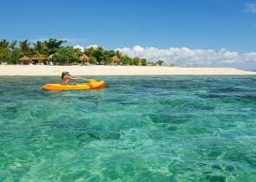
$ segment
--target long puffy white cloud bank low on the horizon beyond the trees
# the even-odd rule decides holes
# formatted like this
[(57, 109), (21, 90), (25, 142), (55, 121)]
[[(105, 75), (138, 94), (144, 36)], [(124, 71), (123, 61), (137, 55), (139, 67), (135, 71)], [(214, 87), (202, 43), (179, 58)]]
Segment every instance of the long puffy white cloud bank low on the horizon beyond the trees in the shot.
[[(123, 55), (144, 57), (148, 62), (163, 60), (166, 66), (175, 62), (180, 67), (241, 67), (256, 63), (256, 53), (241, 54), (227, 49), (188, 49), (188, 48), (142, 48), (134, 46), (132, 49), (116, 49)], [(239, 66), (238, 66), (239, 65)], [(251, 66), (248, 66), (251, 68)]]

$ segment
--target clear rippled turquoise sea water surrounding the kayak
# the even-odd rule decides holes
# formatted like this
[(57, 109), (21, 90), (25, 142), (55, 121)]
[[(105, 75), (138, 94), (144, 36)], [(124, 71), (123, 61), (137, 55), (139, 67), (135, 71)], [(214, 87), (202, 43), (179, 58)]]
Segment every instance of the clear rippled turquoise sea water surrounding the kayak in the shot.
[(0, 77), (0, 181), (255, 181), (255, 76)]

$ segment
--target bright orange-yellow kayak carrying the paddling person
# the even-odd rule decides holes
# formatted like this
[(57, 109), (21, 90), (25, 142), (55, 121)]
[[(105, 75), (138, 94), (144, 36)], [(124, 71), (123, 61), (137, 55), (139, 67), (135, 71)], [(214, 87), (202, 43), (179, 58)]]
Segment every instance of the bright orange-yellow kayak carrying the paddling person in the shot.
[(76, 85), (62, 85), (58, 83), (48, 83), (45, 84), (43, 90), (51, 91), (62, 91), (62, 90), (92, 90), (104, 88), (104, 81), (95, 81), (93, 79), (88, 80), (89, 83), (79, 83)]

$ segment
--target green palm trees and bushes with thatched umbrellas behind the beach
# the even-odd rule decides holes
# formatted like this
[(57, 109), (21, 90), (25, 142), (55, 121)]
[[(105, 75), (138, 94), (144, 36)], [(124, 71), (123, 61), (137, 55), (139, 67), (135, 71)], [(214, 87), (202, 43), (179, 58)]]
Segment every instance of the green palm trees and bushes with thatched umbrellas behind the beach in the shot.
[[(22, 42), (0, 41), (0, 63), (7, 64), (104, 64), (104, 65), (142, 65), (146, 66), (145, 58), (122, 55), (118, 50), (106, 50), (103, 47), (75, 49), (63, 46), (64, 40), (49, 39), (31, 44), (28, 40)], [(163, 61), (158, 61), (159, 65)]]

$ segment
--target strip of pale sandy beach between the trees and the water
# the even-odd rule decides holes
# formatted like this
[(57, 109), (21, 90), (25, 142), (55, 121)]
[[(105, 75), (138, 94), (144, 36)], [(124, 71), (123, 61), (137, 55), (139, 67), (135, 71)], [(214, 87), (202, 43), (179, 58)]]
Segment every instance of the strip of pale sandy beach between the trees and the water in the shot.
[(61, 75), (64, 70), (68, 70), (71, 75), (256, 75), (256, 72), (236, 68), (0, 65), (0, 76)]

